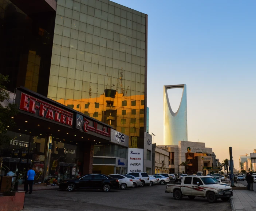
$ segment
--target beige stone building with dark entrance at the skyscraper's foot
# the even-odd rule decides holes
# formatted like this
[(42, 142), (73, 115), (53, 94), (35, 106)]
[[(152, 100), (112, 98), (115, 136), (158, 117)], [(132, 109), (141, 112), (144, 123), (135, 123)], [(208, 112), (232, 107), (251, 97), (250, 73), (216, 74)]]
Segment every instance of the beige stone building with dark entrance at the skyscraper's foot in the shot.
[[(203, 171), (204, 174), (219, 173), (221, 167), (213, 165), (212, 148), (206, 148), (205, 143), (179, 141), (178, 145), (157, 146), (169, 152), (169, 172), (194, 174)], [(189, 165), (181, 166), (181, 162), (188, 161)]]

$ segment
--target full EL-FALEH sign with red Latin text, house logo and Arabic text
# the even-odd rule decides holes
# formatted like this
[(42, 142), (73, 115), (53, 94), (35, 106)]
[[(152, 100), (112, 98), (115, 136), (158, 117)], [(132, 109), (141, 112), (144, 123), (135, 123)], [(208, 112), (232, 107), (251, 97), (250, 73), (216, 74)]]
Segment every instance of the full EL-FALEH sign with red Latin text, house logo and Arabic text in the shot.
[[(66, 111), (50, 103), (44, 102), (43, 100), (40, 100), (28, 94), (21, 93), (19, 108), (29, 113), (37, 113), (40, 117), (67, 125), (70, 128), (72, 128), (73, 126), (74, 113)], [(92, 124), (90, 124), (90, 121), (92, 122)], [(96, 121), (90, 121), (82, 115), (76, 113), (75, 128), (83, 130), (84, 132), (92, 131), (95, 133), (99, 133), (103, 136), (110, 137), (110, 128), (105, 126), (101, 128), (101, 126), (98, 125)]]

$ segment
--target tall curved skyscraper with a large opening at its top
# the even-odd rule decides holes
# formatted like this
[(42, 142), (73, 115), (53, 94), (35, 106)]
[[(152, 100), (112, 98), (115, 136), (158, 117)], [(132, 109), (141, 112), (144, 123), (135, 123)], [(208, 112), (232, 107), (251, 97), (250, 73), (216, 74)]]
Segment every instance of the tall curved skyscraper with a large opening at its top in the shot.
[[(183, 89), (180, 106), (175, 113), (167, 93), (172, 88)], [(164, 145), (177, 145), (178, 141), (188, 141), (186, 84), (164, 86)]]

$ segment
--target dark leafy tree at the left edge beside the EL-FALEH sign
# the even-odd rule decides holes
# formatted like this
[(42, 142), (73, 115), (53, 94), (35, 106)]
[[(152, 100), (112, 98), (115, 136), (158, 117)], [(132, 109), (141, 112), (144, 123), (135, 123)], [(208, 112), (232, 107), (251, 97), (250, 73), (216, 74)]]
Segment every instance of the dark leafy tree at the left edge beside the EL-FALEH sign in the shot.
[(14, 127), (15, 122), (12, 117), (18, 113), (17, 105), (13, 103), (8, 103), (7, 106), (3, 106), (5, 100), (9, 102), (10, 95), (4, 86), (5, 83), (8, 83), (8, 75), (0, 74), (0, 145), (5, 144), (10, 140), (7, 135), (7, 129)]

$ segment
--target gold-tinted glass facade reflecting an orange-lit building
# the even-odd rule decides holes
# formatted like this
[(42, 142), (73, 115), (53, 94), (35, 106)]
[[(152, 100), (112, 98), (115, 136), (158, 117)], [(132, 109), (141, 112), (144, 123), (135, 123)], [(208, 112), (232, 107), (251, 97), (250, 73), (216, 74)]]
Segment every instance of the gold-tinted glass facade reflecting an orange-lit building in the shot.
[(108, 0), (58, 0), (48, 98), (144, 147), (147, 15)]

